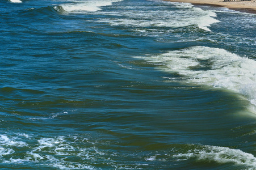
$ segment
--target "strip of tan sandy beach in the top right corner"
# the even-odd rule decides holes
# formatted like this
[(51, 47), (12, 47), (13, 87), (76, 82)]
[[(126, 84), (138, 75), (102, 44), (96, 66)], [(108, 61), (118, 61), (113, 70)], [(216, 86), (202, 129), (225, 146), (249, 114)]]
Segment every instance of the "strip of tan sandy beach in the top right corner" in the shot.
[(229, 8), (230, 10), (256, 14), (256, 0), (226, 1), (226, 2), (224, 2), (224, 0), (201, 0), (201, 1), (200, 0), (163, 0), (163, 1), (192, 3), (192, 5), (226, 7), (226, 8)]

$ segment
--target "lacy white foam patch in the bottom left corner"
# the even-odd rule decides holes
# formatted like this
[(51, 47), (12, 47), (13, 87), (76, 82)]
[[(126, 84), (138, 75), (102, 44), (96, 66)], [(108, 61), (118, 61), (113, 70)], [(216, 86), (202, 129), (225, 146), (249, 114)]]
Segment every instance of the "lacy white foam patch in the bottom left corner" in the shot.
[[(27, 145), (23, 139), (32, 140), (33, 144)], [(95, 161), (100, 155), (108, 155), (98, 151), (99, 149), (91, 144), (89, 147), (79, 147), (77, 142), (86, 144), (85, 138), (77, 136), (36, 140), (27, 134), (0, 135), (0, 158), (2, 163), (10, 164), (39, 163), (45, 167), (58, 169), (96, 169), (90, 162)], [(19, 152), (20, 149), (24, 151), (23, 154), (16, 154), (15, 151)], [(73, 162), (73, 159), (67, 159), (68, 156), (85, 160), (85, 163)]]

